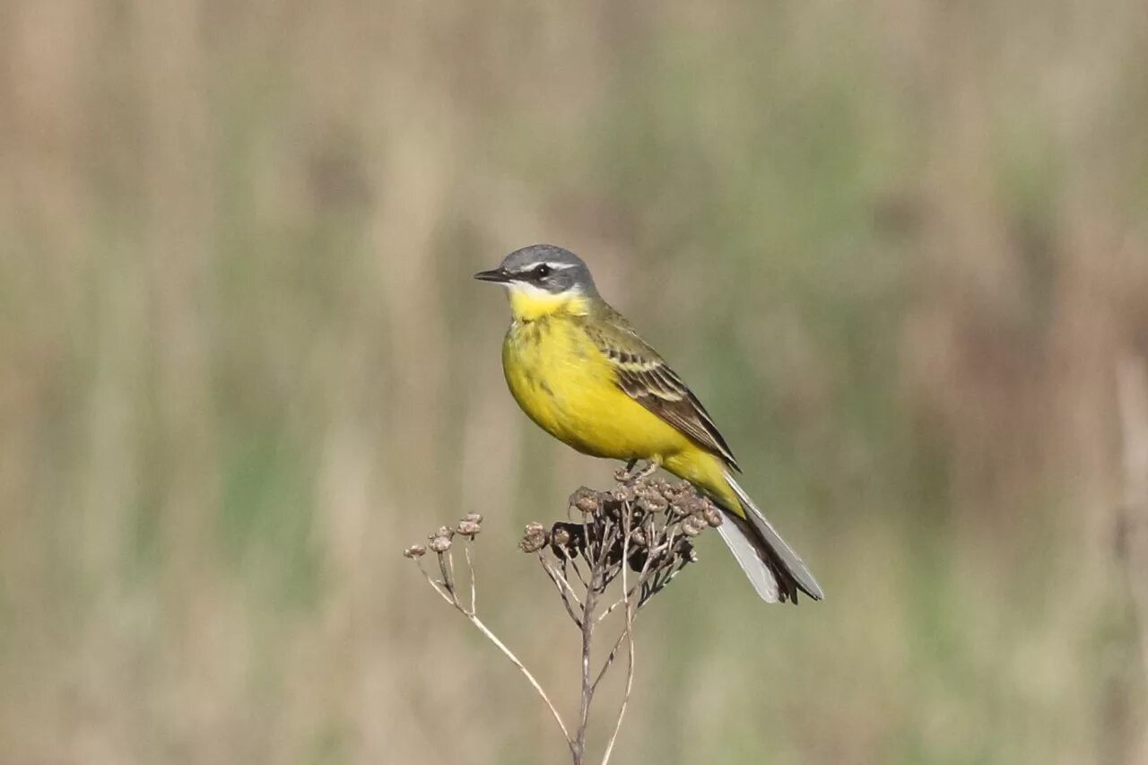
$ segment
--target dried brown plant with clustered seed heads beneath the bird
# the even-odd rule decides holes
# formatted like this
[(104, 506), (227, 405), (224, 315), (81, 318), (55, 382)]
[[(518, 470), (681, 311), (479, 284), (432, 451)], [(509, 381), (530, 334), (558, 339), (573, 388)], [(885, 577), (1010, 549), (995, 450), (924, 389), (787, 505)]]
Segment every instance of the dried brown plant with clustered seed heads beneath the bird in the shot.
[[(634, 621), (650, 598), (660, 593), (687, 565), (697, 559), (691, 539), (722, 523), (721, 512), (687, 482), (651, 478), (650, 471), (620, 470), (618, 486), (608, 492), (585, 487), (569, 499), (568, 520), (527, 524), (519, 548), (538, 559), (553, 582), (563, 606), (581, 635), (581, 695), (577, 724), (568, 726), (537, 678), (479, 618), (474, 579), (474, 539), (482, 517), (465, 516), (455, 528), (440, 527), (426, 546), (414, 544), (404, 555), (419, 564), (436, 593), (474, 625), (526, 677), (561, 729), (575, 765), (587, 760), (587, 732), (596, 693), (625, 648), (626, 681), (613, 718), (613, 729), (602, 755), (610, 762), (634, 688)], [(465, 574), (456, 573), (455, 552), (461, 539)], [(429, 554), (437, 566), (427, 566)], [(595, 663), (604, 621), (619, 615), (604, 659)], [(608, 633), (607, 633), (608, 634)]]

